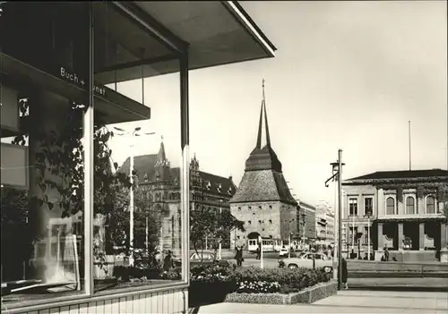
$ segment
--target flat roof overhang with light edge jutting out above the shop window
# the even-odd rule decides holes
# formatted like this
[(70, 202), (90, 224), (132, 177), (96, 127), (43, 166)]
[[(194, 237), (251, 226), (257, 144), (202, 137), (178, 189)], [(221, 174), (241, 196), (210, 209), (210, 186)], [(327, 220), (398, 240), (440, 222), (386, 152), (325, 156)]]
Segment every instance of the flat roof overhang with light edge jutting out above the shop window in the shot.
[[(131, 1), (115, 2), (134, 21), (154, 32), (170, 54), (97, 72), (103, 83), (177, 72), (179, 55), (188, 52), (188, 69), (273, 57), (276, 47), (236, 1)], [(138, 43), (135, 43), (138, 45)], [(119, 72), (116, 75), (116, 72)]]

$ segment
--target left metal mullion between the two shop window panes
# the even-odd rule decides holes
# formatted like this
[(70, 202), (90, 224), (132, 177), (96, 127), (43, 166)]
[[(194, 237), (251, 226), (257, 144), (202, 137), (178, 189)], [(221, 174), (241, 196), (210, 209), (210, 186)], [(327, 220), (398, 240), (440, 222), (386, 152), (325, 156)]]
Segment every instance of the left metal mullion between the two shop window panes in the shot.
[(83, 119), (84, 140), (84, 287), (93, 294), (93, 78), (94, 33), (93, 3), (89, 4), (89, 98)]

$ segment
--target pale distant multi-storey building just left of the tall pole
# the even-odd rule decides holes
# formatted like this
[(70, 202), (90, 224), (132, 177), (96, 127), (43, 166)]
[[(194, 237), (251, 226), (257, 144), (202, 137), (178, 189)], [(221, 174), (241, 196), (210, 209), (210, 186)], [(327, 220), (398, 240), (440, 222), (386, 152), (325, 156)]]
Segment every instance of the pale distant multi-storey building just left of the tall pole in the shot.
[(318, 244), (334, 243), (334, 213), (326, 202), (315, 207), (315, 237)]

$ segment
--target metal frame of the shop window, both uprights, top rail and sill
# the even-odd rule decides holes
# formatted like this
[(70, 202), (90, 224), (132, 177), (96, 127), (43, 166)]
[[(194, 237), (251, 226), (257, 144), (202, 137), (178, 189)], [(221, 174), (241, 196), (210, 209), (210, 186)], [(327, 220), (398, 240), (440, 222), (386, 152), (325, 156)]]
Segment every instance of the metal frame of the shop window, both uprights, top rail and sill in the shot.
[[(94, 23), (93, 23), (93, 10), (94, 5), (115, 5), (118, 11), (123, 13), (126, 18), (138, 22), (145, 28), (149, 35), (157, 38), (160, 42), (168, 44), (173, 53), (178, 57), (180, 80), (179, 85), (181, 89), (180, 93), (180, 137), (181, 137), (181, 149), (182, 149), (182, 165), (181, 165), (181, 182), (180, 182), (180, 208), (181, 208), (181, 245), (182, 245), (182, 279), (176, 283), (162, 283), (147, 286), (135, 286), (124, 287), (116, 290), (105, 290), (102, 292), (94, 293), (93, 282), (93, 134), (94, 134), (94, 109), (95, 109), (95, 97), (94, 97)], [(190, 250), (188, 243), (189, 240), (189, 118), (188, 118), (188, 47), (179, 46), (178, 39), (167, 34), (164, 31), (159, 31), (160, 26), (151, 25), (147, 21), (143, 21), (140, 17), (135, 15), (132, 11), (128, 10), (126, 4), (120, 4), (112, 2), (110, 4), (102, 3), (90, 3), (89, 4), (89, 88), (86, 90), (86, 94), (89, 96), (88, 106), (86, 106), (83, 119), (83, 135), (84, 141), (84, 289), (82, 293), (73, 294), (69, 296), (57, 296), (54, 298), (45, 300), (32, 300), (32, 301), (18, 301), (8, 304), (8, 310), (11, 312), (31, 312), (46, 310), (49, 307), (62, 308), (70, 305), (80, 304), (80, 302), (93, 302), (104, 301), (112, 298), (122, 298), (127, 296), (133, 296), (144, 293), (157, 293), (172, 289), (183, 289), (189, 286), (189, 268), (190, 268)]]

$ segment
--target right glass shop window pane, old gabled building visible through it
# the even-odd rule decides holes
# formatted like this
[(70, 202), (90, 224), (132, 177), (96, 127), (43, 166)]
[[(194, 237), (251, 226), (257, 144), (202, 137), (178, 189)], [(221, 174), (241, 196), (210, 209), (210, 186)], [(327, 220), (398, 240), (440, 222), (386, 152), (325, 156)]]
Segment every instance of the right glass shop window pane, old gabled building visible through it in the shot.
[(95, 291), (181, 281), (179, 60), (113, 5), (94, 29)]

